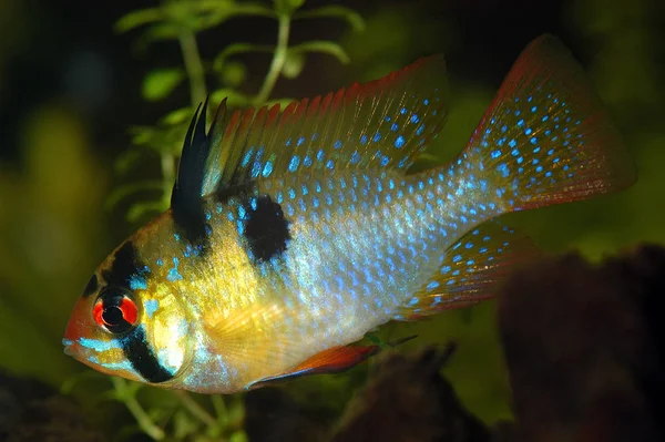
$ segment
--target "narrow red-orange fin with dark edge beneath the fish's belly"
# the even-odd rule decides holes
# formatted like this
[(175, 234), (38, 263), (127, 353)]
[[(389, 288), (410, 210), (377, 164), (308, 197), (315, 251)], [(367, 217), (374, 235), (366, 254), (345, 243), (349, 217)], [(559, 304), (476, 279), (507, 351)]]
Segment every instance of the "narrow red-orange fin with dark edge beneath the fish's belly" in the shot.
[(349, 369), (376, 354), (379, 346), (352, 346), (352, 347), (332, 347), (316, 353), (306, 361), (297, 364), (293, 369), (282, 374), (259, 379), (245, 387), (246, 390), (253, 390), (267, 384), (274, 384), (291, 380), (307, 374), (336, 373)]

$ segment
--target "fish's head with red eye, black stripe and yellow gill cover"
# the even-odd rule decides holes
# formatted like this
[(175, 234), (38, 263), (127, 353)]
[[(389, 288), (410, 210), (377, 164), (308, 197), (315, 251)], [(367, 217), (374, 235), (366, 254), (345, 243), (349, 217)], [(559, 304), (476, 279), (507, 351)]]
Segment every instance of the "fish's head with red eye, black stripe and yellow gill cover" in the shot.
[(64, 352), (106, 374), (168, 387), (192, 359), (192, 320), (178, 287), (161, 284), (146, 247), (129, 239), (90, 278)]

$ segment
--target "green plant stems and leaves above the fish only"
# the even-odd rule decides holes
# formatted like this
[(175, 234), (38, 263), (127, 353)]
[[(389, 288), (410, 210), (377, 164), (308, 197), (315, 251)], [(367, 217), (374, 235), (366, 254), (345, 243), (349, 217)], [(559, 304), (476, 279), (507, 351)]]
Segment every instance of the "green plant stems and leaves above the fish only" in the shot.
[[(190, 83), (192, 92), (192, 107), (180, 107), (167, 113), (153, 127), (133, 127), (134, 148), (124, 152), (116, 160), (116, 171), (124, 175), (140, 164), (141, 152), (152, 151), (161, 158), (162, 197), (158, 201), (139, 202), (130, 207), (127, 210), (130, 222), (142, 219), (151, 213), (163, 212), (167, 208), (172, 183), (175, 179), (175, 162), (182, 148), (182, 140), (190, 124), (193, 107), (208, 94), (206, 76), (215, 80), (215, 85), (209, 92), (211, 109), (214, 109), (224, 99), (229, 107), (260, 106), (268, 103), (268, 97), (279, 75), (288, 79), (299, 75), (307, 53), (325, 53), (335, 56), (341, 63), (349, 62), (345, 50), (332, 41), (308, 41), (289, 47), (290, 23), (295, 18), (341, 19), (356, 30), (364, 28), (360, 16), (350, 9), (324, 7), (300, 11), (299, 8), (304, 3), (304, 0), (276, 0), (270, 8), (264, 3), (235, 0), (172, 0), (157, 8), (130, 12), (116, 22), (117, 32), (142, 28), (143, 33), (139, 38), (142, 48), (146, 48), (150, 42), (155, 40), (176, 40), (181, 45), (184, 69), (167, 68), (151, 71), (143, 81), (143, 97), (149, 101), (164, 100), (185, 80)], [(298, 16), (295, 16), (296, 12)], [(277, 19), (279, 23), (277, 44), (232, 43), (219, 51), (212, 63), (206, 64), (198, 53), (195, 34), (238, 16)], [(254, 96), (237, 90), (245, 80), (246, 68), (242, 62), (233, 60), (233, 56), (243, 54), (273, 56), (263, 86)], [(285, 101), (287, 100), (282, 99), (270, 103)], [(158, 187), (154, 181), (122, 185), (112, 193), (108, 206), (112, 208), (123, 199), (132, 197), (136, 192), (156, 191)]]

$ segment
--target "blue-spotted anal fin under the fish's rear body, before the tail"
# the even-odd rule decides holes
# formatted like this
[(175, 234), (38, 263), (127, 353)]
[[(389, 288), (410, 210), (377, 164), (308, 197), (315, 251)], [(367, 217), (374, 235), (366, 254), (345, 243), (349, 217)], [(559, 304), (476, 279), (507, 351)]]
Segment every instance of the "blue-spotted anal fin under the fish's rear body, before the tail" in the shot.
[(492, 297), (510, 271), (539, 255), (531, 240), (497, 222), (487, 222), (453, 244), (439, 271), (416, 291), (397, 320), (418, 320)]

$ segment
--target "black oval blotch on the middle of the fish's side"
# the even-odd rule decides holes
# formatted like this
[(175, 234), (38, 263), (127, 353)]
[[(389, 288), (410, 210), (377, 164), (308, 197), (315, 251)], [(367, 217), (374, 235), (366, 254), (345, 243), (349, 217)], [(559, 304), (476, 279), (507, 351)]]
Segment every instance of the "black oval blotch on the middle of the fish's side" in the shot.
[[(253, 199), (256, 201), (255, 206)], [(255, 261), (267, 261), (282, 255), (290, 239), (289, 223), (284, 217), (282, 206), (269, 195), (250, 197), (243, 206), (246, 212), (243, 235), (249, 256)]]

